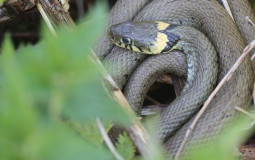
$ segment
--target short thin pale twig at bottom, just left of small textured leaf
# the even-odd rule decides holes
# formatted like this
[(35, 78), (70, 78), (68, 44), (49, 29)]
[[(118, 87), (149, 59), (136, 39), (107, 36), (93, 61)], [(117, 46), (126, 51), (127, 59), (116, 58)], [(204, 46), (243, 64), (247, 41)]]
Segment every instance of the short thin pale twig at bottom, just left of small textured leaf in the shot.
[(112, 154), (114, 155), (114, 157), (117, 159), (117, 160), (124, 160), (124, 158), (121, 157), (121, 155), (119, 155), (119, 153), (115, 150), (109, 136), (107, 135), (105, 129), (104, 129), (104, 126), (103, 124), (101, 123), (100, 119), (97, 118), (96, 119), (96, 122), (97, 122), (97, 127), (99, 128), (100, 130), (100, 133), (107, 145), (107, 147), (110, 149), (110, 151), (112, 152)]

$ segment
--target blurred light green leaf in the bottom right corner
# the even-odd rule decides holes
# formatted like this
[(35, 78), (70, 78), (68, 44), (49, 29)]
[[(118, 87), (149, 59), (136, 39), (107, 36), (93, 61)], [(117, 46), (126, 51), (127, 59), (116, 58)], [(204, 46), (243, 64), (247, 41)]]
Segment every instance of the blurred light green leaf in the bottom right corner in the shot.
[[(201, 146), (189, 155), (190, 160), (238, 160), (238, 147), (251, 136), (254, 129), (249, 128), (249, 117), (239, 117), (224, 129), (213, 143)], [(247, 129), (249, 128), (249, 129)]]

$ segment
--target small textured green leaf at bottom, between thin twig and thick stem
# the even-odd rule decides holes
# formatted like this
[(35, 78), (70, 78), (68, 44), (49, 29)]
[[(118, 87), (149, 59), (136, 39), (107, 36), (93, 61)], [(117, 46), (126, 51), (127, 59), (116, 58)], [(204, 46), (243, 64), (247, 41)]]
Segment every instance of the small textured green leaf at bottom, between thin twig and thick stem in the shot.
[(127, 136), (127, 133), (124, 132), (123, 135), (120, 135), (118, 138), (118, 143), (116, 144), (117, 152), (125, 159), (132, 160), (135, 155), (135, 147), (131, 139)]

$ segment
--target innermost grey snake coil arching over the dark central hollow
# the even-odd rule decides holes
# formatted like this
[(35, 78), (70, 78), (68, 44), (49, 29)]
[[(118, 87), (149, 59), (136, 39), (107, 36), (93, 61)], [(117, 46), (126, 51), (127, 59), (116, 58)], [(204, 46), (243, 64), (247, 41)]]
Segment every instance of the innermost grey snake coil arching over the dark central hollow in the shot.
[[(153, 64), (153, 66), (151, 64)], [(130, 103), (133, 104), (133, 107), (140, 108), (142, 106), (149, 87), (154, 83), (156, 78), (166, 73), (181, 77), (186, 76), (187, 62), (185, 54), (181, 51), (171, 51), (170, 54), (151, 56), (143, 61), (130, 77), (124, 91), (126, 97), (129, 98), (129, 102), (132, 101)], [(142, 75), (143, 80), (136, 80), (136, 78), (139, 78), (137, 75)], [(141, 96), (137, 96), (137, 94)]]

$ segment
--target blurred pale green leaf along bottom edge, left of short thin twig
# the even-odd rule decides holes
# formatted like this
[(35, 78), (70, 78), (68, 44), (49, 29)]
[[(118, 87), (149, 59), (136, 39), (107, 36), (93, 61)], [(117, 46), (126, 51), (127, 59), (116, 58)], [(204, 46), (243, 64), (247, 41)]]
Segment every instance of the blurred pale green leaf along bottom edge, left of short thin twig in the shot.
[(37, 151), (41, 160), (113, 159), (107, 148), (92, 145), (61, 124), (41, 128), (28, 139), (27, 146)]

